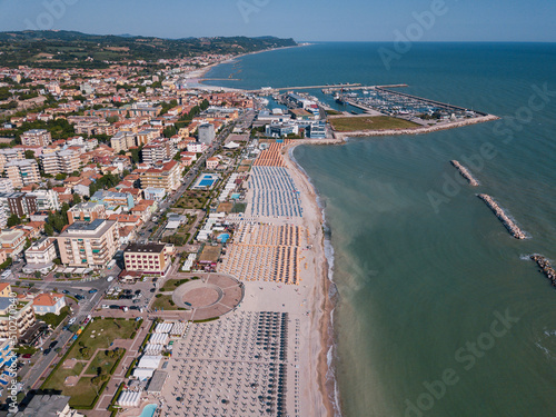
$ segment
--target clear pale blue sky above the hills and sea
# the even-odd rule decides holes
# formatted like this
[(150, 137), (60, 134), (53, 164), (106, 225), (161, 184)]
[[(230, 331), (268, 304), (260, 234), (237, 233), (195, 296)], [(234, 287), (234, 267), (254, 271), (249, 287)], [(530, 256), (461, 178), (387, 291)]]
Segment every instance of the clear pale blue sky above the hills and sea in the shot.
[(554, 0), (0, 0), (0, 31), (556, 42)]

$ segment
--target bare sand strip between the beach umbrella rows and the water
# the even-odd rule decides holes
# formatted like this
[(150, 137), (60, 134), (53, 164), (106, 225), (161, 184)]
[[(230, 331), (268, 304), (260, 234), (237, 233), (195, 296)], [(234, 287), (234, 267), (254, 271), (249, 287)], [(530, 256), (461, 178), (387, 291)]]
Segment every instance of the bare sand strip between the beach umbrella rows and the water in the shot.
[[(311, 346), (311, 354), (315, 355), (317, 386), (326, 415), (334, 417), (340, 416), (339, 393), (337, 389), (336, 378), (329, 361), (329, 353), (334, 351), (334, 329), (332, 329), (332, 314), (335, 308), (335, 297), (330, 296), (334, 290), (334, 281), (331, 277), (331, 261), (326, 256), (324, 236), (324, 208), (318, 203), (318, 195), (316, 189), (307, 176), (305, 170), (298, 165), (292, 156), (292, 151), (300, 145), (339, 145), (344, 143), (342, 139), (319, 139), (319, 140), (295, 140), (294, 142), (286, 143), (282, 148), (282, 157), (286, 161), (287, 168), (291, 171), (296, 182), (300, 182), (299, 187), (307, 192), (311, 202), (311, 211), (319, 225), (317, 228), (318, 234), (315, 237), (315, 257), (322, 259), (317, 267), (316, 288), (314, 298), (314, 309), (311, 315), (311, 329), (318, 332), (318, 339)], [(312, 334), (311, 331), (311, 334)]]

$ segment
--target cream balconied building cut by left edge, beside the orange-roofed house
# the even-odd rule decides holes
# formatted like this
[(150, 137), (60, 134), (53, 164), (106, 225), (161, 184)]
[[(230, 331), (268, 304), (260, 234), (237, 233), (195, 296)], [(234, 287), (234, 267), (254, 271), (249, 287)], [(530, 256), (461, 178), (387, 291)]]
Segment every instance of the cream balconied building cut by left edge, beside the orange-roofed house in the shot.
[(0, 338), (19, 340), (36, 321), (31, 301), (0, 297)]

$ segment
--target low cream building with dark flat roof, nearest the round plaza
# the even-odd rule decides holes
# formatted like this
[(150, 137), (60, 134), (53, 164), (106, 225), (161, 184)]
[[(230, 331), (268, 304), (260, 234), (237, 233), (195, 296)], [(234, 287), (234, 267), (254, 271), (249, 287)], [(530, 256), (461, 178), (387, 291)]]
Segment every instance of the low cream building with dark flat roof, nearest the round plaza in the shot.
[(127, 271), (165, 275), (170, 267), (170, 254), (163, 244), (131, 244), (123, 250)]

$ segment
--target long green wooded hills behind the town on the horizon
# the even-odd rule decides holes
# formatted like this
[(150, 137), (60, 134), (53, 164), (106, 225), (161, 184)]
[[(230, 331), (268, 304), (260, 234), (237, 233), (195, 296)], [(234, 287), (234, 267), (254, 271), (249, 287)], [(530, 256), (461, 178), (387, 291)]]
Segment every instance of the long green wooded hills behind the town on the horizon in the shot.
[(292, 46), (297, 46), (294, 39), (275, 37), (161, 39), (67, 30), (7, 31), (0, 32), (0, 67), (105, 68), (118, 61), (157, 61), (202, 53), (239, 54)]

